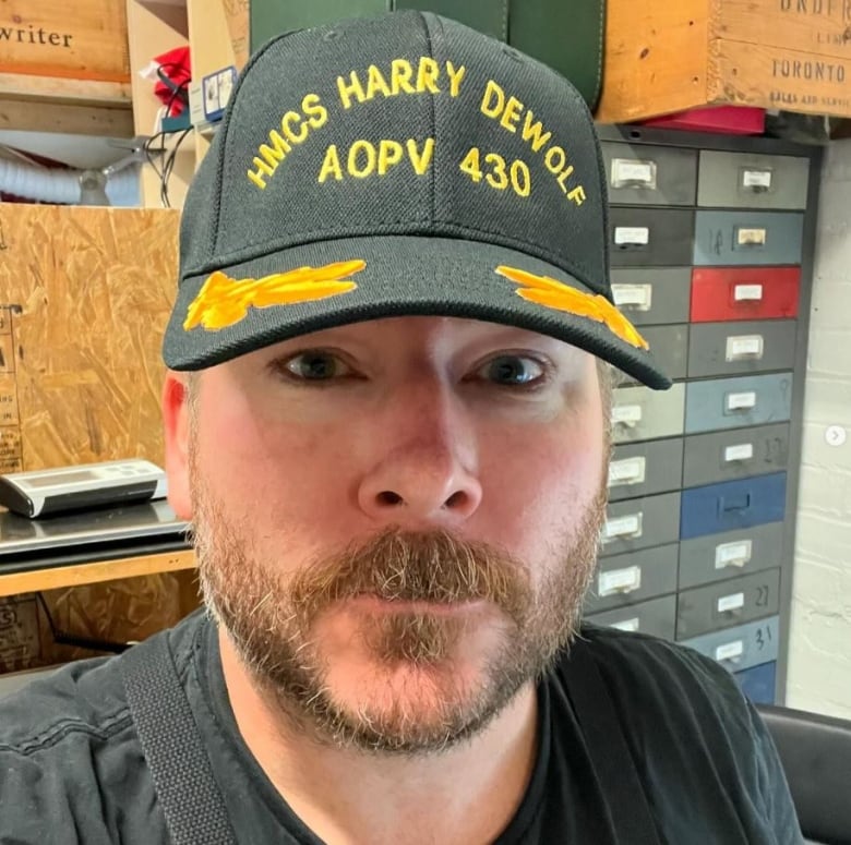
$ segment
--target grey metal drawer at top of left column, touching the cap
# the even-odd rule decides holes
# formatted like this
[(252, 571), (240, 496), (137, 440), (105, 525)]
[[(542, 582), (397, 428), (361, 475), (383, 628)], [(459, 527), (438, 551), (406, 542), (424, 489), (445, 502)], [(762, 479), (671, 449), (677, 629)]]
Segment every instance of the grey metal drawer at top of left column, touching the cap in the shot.
[(694, 205), (697, 152), (602, 142), (610, 203)]

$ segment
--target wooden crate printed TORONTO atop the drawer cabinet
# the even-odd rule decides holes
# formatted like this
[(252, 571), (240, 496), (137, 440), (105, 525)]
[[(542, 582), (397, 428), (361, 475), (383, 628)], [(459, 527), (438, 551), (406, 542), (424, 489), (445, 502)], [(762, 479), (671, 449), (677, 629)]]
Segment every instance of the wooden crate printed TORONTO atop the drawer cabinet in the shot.
[(851, 117), (851, 2), (608, 0), (597, 120), (707, 105)]

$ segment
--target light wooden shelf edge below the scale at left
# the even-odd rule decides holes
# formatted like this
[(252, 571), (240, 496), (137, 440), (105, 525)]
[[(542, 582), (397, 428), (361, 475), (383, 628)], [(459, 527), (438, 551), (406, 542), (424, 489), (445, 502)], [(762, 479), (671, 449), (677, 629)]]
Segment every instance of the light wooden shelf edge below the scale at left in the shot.
[(180, 569), (192, 569), (194, 566), (194, 552), (185, 550), (125, 557), (118, 560), (56, 566), (29, 572), (0, 574), (0, 596), (56, 590), (62, 587), (81, 587), (82, 584), (113, 581), (118, 578), (173, 572)]

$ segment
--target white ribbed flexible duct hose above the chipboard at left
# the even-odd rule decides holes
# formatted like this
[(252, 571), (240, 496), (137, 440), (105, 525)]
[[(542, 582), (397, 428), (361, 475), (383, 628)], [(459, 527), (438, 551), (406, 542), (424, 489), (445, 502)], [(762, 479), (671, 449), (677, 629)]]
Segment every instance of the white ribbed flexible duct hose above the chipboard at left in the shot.
[[(80, 174), (79, 170), (47, 170), (0, 159), (0, 191), (41, 203), (77, 205)], [(110, 176), (106, 193), (112, 205), (139, 205), (136, 169), (124, 168)]]

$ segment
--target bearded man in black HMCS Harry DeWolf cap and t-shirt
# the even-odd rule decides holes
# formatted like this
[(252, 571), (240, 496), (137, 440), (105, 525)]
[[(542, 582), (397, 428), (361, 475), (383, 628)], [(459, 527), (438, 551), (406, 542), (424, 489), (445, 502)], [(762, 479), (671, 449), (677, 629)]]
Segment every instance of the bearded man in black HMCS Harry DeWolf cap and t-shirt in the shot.
[(3, 710), (2, 838), (796, 843), (727, 673), (579, 627), (612, 306), (587, 109), (431, 14), (253, 58), (187, 201), (169, 496), (208, 616)]

